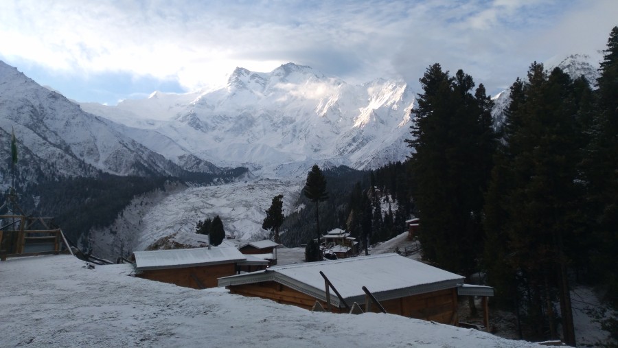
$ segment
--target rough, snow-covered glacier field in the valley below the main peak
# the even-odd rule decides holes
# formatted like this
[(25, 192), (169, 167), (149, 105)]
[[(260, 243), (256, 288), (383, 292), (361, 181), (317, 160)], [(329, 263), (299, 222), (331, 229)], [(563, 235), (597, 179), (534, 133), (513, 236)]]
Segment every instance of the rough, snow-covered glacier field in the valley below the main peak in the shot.
[(303, 185), (299, 181), (259, 179), (227, 185), (166, 187), (165, 192), (135, 198), (111, 227), (91, 231), (90, 240), (81, 240), (80, 244), (91, 247), (93, 255), (115, 259), (121, 248), (128, 256), (161, 237), (174, 235), (173, 240), (187, 240), (187, 235), (195, 235), (198, 220), (217, 215), (227, 235), (262, 239), (268, 237), (262, 221), (273, 197), (284, 195), (284, 213), (288, 213)]

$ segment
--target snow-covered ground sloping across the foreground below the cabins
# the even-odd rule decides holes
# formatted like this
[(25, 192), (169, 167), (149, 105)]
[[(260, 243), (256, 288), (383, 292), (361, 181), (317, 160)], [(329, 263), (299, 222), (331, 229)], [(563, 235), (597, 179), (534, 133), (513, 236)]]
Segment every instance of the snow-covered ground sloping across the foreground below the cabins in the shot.
[(83, 268), (69, 255), (0, 262), (3, 347), (541, 347), (391, 314), (273, 301)]

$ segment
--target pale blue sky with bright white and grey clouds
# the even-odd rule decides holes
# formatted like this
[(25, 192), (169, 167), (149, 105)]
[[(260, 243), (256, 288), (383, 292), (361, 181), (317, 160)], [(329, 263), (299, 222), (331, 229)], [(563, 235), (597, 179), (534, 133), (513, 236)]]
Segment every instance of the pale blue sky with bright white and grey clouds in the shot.
[(80, 102), (309, 65), (350, 83), (464, 69), (496, 93), (533, 61), (596, 54), (618, 0), (0, 1), (0, 60)]

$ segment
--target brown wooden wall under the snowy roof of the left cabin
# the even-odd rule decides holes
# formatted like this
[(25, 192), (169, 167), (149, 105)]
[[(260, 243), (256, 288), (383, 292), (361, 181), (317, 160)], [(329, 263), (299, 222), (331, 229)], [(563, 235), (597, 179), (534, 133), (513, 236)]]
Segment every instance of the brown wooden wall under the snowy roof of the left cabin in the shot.
[[(198, 266), (186, 268), (165, 268), (161, 270), (144, 270), (138, 277), (163, 283), (172, 283), (185, 288), (199, 289), (196, 277), (205, 288), (218, 286), (217, 278), (236, 275), (236, 263)], [(193, 277), (192, 277), (193, 276)]]

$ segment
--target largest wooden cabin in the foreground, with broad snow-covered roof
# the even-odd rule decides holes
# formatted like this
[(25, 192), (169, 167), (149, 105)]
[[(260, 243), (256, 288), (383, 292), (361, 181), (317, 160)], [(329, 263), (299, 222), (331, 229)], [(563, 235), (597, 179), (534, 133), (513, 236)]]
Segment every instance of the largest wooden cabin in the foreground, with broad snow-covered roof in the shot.
[[(327, 291), (325, 277), (341, 294)], [(315, 302), (331, 312), (350, 312), (353, 303), (364, 305), (367, 294), (374, 295), (390, 314), (420, 318), (450, 325), (459, 323), (458, 289), (464, 277), (417, 262), (395, 253), (275, 266), (260, 272), (219, 279), (233, 294), (262, 297), (278, 303), (311, 309)], [(482, 287), (488, 296), (489, 289)], [(466, 294), (475, 294), (466, 287)], [(330, 303), (327, 303), (330, 299)], [(330, 305), (329, 305), (330, 304)], [(372, 306), (372, 312), (378, 312)]]

